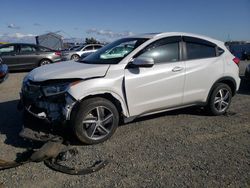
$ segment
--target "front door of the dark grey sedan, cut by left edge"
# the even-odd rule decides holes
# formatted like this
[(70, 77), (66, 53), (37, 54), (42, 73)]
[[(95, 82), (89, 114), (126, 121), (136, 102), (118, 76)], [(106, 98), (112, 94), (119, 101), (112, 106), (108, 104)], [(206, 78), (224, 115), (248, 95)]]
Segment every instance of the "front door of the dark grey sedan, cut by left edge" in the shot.
[(17, 48), (15, 44), (3, 45), (0, 47), (0, 56), (9, 69), (14, 69), (17, 65)]

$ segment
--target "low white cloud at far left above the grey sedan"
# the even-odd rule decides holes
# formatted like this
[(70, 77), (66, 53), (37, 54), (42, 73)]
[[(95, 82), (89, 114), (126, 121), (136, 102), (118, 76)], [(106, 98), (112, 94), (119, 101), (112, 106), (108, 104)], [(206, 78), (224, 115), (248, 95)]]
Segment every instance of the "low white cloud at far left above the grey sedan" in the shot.
[(3, 42), (35, 42), (34, 34), (25, 33), (0, 33), (0, 41)]

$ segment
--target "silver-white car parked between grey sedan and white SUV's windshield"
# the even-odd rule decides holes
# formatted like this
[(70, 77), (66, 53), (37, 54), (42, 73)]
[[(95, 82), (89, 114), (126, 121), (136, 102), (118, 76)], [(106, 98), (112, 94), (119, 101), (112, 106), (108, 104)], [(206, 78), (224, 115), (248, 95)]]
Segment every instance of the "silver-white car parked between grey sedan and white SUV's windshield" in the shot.
[(67, 61), (67, 60), (78, 61), (83, 54), (89, 55), (90, 53), (93, 53), (102, 47), (103, 47), (102, 44), (85, 44), (85, 45), (80, 46), (79, 48), (77, 48), (73, 51), (63, 52), (63, 60), (65, 60), (65, 61)]

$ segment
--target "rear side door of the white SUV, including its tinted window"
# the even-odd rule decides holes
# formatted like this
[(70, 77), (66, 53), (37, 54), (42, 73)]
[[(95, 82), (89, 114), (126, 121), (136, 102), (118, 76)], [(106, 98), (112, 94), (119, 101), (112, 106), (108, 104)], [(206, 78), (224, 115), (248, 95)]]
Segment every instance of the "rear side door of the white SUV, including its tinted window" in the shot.
[(213, 83), (223, 76), (223, 60), (215, 44), (195, 38), (183, 37), (185, 54), (185, 87), (183, 103), (204, 102)]

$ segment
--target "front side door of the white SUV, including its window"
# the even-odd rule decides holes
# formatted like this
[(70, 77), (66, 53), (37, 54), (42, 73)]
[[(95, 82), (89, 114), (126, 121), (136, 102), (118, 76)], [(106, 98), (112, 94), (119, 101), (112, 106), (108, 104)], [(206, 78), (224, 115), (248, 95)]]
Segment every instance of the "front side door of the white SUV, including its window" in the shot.
[(181, 37), (151, 43), (136, 57), (154, 59), (154, 66), (125, 69), (125, 89), (131, 116), (182, 104), (185, 63), (181, 60)]

